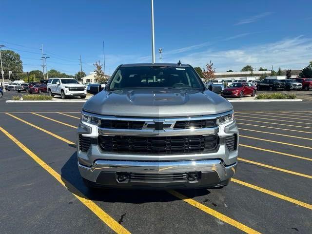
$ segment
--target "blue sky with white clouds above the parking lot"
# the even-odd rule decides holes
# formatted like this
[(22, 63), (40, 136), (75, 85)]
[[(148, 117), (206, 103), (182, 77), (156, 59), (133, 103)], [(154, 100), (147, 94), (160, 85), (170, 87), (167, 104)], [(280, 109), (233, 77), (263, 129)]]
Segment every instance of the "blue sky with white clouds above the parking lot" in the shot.
[[(312, 1), (155, 0), (156, 49), (163, 62), (239, 71), (251, 64), (301, 69), (312, 60)], [(106, 73), (121, 63), (151, 61), (150, 0), (2, 0), (0, 43), (18, 52), (24, 71)], [(159, 55), (156, 53), (156, 61)]]

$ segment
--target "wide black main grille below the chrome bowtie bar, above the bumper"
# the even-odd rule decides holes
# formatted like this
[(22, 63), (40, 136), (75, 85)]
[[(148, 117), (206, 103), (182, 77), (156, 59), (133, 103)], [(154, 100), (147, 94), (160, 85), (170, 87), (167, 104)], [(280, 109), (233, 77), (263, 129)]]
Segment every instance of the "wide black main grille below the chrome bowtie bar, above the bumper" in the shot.
[(149, 154), (209, 153), (217, 149), (218, 136), (99, 136), (98, 144), (104, 151)]

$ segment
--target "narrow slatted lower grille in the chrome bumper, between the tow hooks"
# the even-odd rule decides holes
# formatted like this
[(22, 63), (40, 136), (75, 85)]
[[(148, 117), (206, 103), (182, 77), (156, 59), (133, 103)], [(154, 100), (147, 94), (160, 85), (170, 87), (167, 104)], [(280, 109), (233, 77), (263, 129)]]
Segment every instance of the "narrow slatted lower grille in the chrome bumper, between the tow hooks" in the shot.
[(144, 173), (131, 173), (130, 180), (136, 182), (168, 182), (168, 181), (186, 181), (186, 173), (163, 173), (163, 174), (144, 174)]

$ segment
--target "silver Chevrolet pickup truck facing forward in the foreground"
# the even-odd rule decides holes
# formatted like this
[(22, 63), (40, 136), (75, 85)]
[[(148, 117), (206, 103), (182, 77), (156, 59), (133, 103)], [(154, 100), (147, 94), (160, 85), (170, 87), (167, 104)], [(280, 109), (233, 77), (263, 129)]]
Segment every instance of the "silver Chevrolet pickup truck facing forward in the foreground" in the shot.
[(77, 131), (89, 188), (223, 187), (237, 150), (233, 106), (180, 63), (118, 66), (84, 104)]

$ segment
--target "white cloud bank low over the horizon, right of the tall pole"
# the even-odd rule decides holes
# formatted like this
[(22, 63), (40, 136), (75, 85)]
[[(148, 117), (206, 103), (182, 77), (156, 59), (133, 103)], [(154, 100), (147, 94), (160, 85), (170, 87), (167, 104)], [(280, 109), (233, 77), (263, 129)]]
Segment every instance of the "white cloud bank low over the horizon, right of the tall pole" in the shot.
[(164, 62), (181, 60), (183, 63), (204, 67), (210, 59), (219, 72), (229, 69), (239, 71), (246, 64), (268, 69), (273, 65), (275, 70), (278, 67), (301, 69), (312, 60), (312, 39), (299, 36), (273, 43), (244, 46), (239, 49), (221, 51), (210, 49), (181, 57), (164, 57)]

